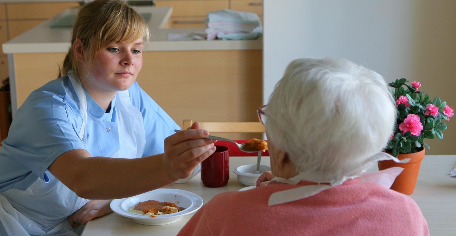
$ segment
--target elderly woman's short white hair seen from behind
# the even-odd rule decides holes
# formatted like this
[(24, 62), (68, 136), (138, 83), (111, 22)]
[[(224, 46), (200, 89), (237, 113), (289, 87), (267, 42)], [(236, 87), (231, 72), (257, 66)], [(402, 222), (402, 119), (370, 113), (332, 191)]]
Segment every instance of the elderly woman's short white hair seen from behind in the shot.
[(265, 114), (269, 141), (299, 172), (340, 176), (383, 150), (396, 107), (378, 73), (346, 59), (306, 58), (288, 65)]

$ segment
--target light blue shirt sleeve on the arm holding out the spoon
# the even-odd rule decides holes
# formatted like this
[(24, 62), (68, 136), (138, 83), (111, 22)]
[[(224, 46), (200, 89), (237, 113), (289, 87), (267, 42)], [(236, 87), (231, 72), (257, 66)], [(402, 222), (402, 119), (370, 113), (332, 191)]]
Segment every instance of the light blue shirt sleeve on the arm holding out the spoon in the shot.
[[(58, 83), (62, 80), (54, 80), (51, 85), (61, 86)], [(0, 191), (21, 181), (24, 186), (14, 188), (28, 187), (31, 183), (23, 182), (27, 177), (31, 177), (30, 181), (36, 176), (44, 180), (45, 171), (58, 156), (73, 149), (87, 150), (78, 137), (82, 125), (78, 114), (65, 93), (34, 91), (17, 111), (8, 137), (2, 142)]]

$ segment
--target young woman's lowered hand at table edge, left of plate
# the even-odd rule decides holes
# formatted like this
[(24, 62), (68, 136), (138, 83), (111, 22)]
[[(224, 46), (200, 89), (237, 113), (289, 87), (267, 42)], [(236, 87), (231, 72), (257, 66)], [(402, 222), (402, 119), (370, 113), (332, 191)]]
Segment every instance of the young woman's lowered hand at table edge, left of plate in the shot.
[(87, 221), (104, 216), (111, 212), (109, 204), (112, 200), (92, 200), (86, 203), (81, 209), (68, 216), (68, 221), (74, 227), (85, 225)]

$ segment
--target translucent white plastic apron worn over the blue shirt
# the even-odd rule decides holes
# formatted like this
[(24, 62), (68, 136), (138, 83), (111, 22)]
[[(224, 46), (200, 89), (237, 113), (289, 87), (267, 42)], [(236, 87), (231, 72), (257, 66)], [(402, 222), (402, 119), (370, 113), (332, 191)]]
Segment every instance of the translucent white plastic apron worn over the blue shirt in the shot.
[[(76, 90), (80, 103), (79, 109), (83, 116), (83, 124), (78, 136), (87, 147), (87, 100), (82, 85), (73, 76), (69, 71), (68, 77)], [(115, 109), (119, 130), (119, 151), (111, 157), (130, 159), (142, 157), (145, 148), (144, 123), (141, 112), (131, 104), (128, 90), (117, 93)], [(0, 221), (8, 235), (74, 236), (81, 233), (76, 233), (75, 230), (82, 231), (83, 227), (75, 229), (69, 224), (67, 217), (90, 200), (78, 197), (51, 172), (46, 171), (46, 175), (49, 177), (46, 182), (38, 178), (25, 191), (10, 189), (3, 193), (4, 196), (0, 195)], [(22, 213), (11, 206), (5, 196), (17, 202), (29, 202), (34, 206), (30, 209), (25, 206), (28, 211)], [(53, 211), (52, 213), (36, 211), (37, 205)]]

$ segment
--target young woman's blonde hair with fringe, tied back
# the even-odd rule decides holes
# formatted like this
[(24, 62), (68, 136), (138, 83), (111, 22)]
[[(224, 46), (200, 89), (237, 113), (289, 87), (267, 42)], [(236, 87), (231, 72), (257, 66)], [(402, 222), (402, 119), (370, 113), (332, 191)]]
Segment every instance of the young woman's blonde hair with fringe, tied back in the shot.
[(73, 52), (73, 44), (80, 39), (90, 65), (93, 57), (104, 47), (115, 42), (132, 43), (143, 38), (145, 48), (150, 33), (144, 18), (124, 0), (94, 0), (84, 5), (73, 25), (71, 47), (68, 50), (63, 68), (58, 77), (73, 70), (79, 78), (78, 60)]

